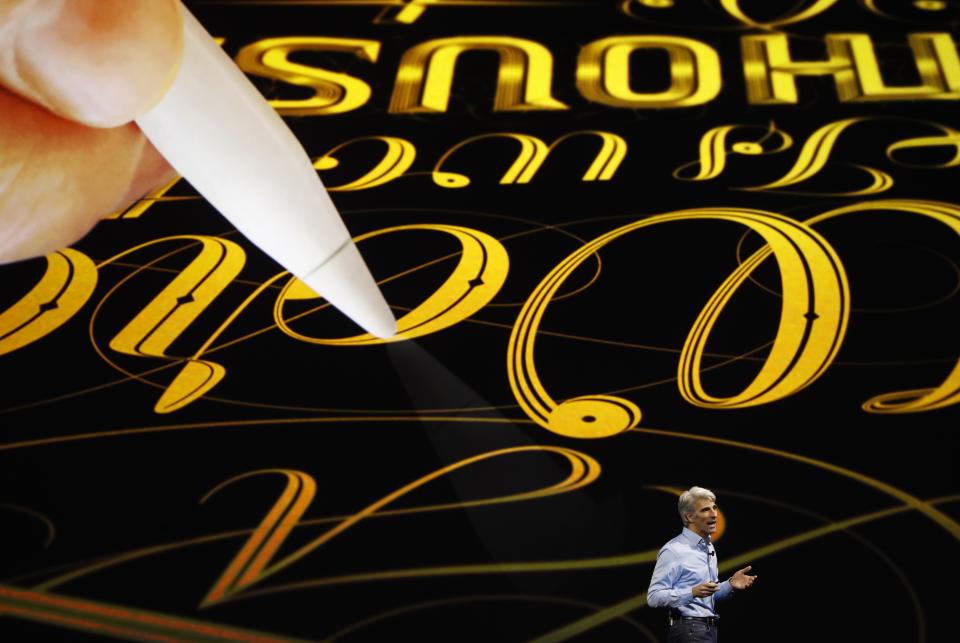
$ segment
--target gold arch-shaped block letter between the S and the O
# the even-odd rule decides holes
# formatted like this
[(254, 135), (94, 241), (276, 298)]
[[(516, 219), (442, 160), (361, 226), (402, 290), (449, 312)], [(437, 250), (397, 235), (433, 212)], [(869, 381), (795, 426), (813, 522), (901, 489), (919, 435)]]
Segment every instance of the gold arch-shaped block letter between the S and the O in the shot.
[(457, 58), (465, 51), (489, 50), (500, 56), (494, 111), (562, 110), (550, 93), (553, 56), (533, 40), (509, 36), (458, 36), (429, 40), (410, 48), (390, 99), (390, 112), (445, 112)]

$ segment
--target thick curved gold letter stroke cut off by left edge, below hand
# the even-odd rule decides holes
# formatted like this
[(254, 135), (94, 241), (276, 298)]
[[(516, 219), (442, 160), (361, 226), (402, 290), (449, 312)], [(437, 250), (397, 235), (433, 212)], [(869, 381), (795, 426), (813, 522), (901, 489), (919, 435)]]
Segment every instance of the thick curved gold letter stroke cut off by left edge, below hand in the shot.
[(87, 255), (64, 248), (46, 257), (47, 269), (30, 292), (0, 313), (0, 355), (23, 348), (67, 323), (97, 287)]

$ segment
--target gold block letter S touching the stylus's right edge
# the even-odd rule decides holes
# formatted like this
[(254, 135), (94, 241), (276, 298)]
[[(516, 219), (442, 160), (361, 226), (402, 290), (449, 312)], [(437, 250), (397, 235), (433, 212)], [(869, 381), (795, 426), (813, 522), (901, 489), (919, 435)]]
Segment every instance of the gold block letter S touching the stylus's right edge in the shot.
[(370, 100), (370, 86), (359, 78), (291, 61), (290, 55), (300, 51), (341, 51), (376, 62), (380, 43), (320, 36), (266, 38), (241, 49), (236, 60), (245, 72), (313, 90), (309, 98), (271, 100), (270, 104), (284, 116), (341, 114)]

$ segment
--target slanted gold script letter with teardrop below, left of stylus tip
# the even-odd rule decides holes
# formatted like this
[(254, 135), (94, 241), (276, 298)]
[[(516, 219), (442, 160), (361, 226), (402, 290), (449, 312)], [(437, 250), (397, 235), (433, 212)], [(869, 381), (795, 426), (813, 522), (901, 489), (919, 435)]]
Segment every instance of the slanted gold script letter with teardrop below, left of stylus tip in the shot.
[[(170, 359), (167, 348), (213, 303), (240, 273), (246, 261), (243, 249), (214, 237), (178, 235), (135, 246), (114, 256), (116, 261), (140, 249), (167, 241), (199, 242), (200, 252), (170, 284), (110, 340), (110, 348), (126, 355)], [(219, 364), (189, 360), (164, 391), (154, 411), (169, 413), (203, 395), (226, 371)]]

